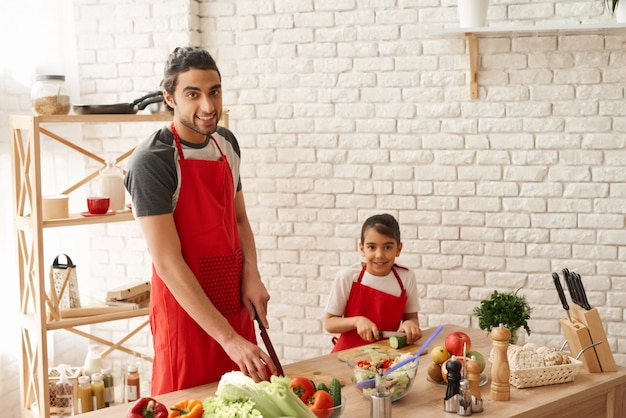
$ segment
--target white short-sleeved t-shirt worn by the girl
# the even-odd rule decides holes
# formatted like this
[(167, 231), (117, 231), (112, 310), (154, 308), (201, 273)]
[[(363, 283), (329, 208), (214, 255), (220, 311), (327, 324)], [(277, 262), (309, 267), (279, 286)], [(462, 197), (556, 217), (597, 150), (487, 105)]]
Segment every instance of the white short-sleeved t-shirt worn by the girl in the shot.
[[(337, 316), (343, 316), (345, 314), (352, 283), (359, 279), (362, 269), (363, 264), (357, 263), (337, 272), (335, 282), (333, 283), (328, 301), (326, 302), (326, 312)], [(398, 276), (400, 276), (400, 281), (402, 281), (402, 285), (406, 290), (407, 301), (404, 307), (404, 313), (418, 312), (419, 295), (417, 293), (415, 273), (411, 269), (396, 267), (395, 270)], [(389, 274), (384, 277), (374, 276), (366, 271), (363, 274), (363, 279), (361, 279), (361, 284), (394, 296), (400, 296), (402, 292), (393, 271), (390, 271)]]

